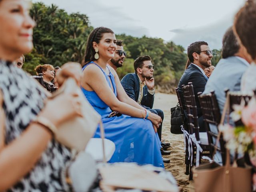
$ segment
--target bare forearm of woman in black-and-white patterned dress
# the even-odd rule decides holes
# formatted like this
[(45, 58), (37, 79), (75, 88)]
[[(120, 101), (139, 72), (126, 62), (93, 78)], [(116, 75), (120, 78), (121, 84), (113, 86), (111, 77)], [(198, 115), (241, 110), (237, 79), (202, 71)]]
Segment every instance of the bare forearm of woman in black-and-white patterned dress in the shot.
[(0, 151), (0, 191), (13, 186), (36, 164), (52, 134), (39, 124), (31, 124), (19, 138)]

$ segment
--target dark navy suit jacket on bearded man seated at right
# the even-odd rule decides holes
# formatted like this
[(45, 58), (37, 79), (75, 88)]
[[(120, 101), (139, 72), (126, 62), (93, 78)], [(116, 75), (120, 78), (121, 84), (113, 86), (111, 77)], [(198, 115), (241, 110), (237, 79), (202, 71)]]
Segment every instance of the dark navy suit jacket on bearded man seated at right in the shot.
[[(202, 74), (202, 72), (200, 71), (200, 69), (198, 69), (198, 67), (194, 66), (193, 64), (190, 64), (190, 66), (188, 66), (188, 68), (184, 71), (184, 74), (180, 78), (180, 82), (178, 84), (178, 91), (180, 93), (180, 98), (183, 104), (185, 104), (185, 100), (183, 96), (182, 85), (188, 85), (188, 82), (192, 82), (193, 84), (197, 113), (198, 117), (200, 117), (202, 116), (202, 111), (197, 97), (197, 93), (204, 92), (207, 80), (204, 74)], [(183, 106), (183, 108), (186, 109), (185, 106)]]

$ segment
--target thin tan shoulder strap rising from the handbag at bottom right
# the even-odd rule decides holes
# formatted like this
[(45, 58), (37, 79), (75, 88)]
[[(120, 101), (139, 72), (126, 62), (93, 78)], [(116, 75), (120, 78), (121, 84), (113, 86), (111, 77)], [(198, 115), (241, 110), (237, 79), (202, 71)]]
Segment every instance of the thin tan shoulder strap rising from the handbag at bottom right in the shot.
[[(223, 108), (223, 111), (222, 111), (220, 124), (218, 126), (224, 124), (226, 114), (227, 114), (227, 123), (229, 124), (229, 110), (230, 110), (230, 96), (229, 96), (229, 92), (227, 92), (226, 102), (225, 102), (225, 105), (224, 105), (224, 108)], [(221, 134), (222, 134), (222, 132), (219, 130), (218, 136), (217, 136), (217, 139), (216, 139), (216, 142), (215, 142), (215, 145), (214, 145), (214, 152), (212, 153), (212, 160), (213, 160), (214, 155), (216, 154)]]

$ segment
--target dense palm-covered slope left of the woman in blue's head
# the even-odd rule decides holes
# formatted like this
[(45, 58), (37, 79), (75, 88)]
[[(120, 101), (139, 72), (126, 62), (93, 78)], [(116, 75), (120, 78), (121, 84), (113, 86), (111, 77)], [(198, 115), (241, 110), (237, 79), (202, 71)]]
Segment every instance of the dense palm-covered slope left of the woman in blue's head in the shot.
[[(33, 4), (30, 15), (36, 21), (33, 42), (44, 62), (61, 66), (68, 61), (82, 62), (86, 40), (92, 30), (84, 14), (67, 14), (57, 6)], [(42, 63), (44, 64), (44, 63)]]

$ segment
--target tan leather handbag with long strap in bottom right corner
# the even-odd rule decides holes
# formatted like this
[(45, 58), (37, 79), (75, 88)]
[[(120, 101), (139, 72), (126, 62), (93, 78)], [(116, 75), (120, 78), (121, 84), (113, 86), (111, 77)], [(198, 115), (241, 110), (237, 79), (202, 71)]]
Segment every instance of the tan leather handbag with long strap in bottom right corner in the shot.
[[(226, 111), (229, 110), (229, 105), (229, 96), (227, 96), (220, 124), (224, 122)], [(219, 132), (213, 154), (216, 153), (220, 134)], [(251, 168), (237, 167), (235, 163), (230, 165), (230, 154), (228, 150), (226, 152), (226, 165), (220, 166), (216, 162), (206, 163), (192, 168), (192, 171), (194, 173), (193, 177), (196, 192), (252, 191)]]

